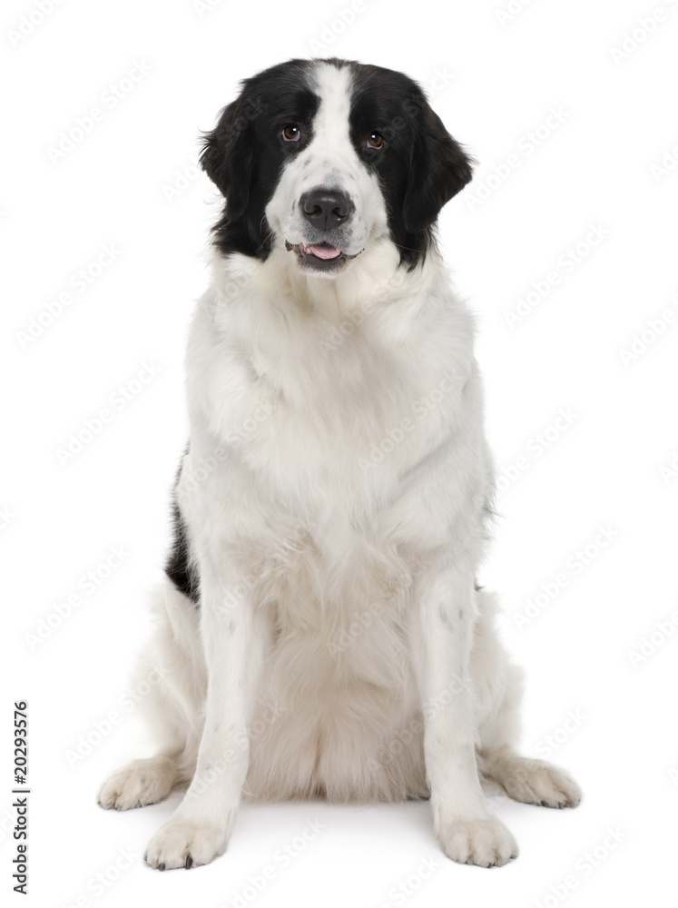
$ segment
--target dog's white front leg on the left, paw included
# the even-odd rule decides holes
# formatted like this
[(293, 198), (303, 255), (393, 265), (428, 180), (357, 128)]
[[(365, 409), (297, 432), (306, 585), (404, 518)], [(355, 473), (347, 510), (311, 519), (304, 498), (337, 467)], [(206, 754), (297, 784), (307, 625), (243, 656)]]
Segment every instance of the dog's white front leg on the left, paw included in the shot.
[(249, 765), (249, 728), (268, 640), (268, 621), (243, 577), (201, 564), (201, 636), (207, 664), (205, 724), (191, 786), (152, 837), (158, 870), (209, 864), (226, 849)]

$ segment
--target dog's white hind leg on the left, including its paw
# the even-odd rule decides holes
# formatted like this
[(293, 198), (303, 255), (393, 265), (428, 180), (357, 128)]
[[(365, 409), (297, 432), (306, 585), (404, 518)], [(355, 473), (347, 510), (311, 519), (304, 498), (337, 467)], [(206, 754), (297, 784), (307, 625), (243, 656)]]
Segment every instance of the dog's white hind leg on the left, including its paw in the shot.
[(136, 668), (133, 689), (161, 745), (155, 756), (123, 766), (99, 789), (98, 803), (129, 810), (164, 800), (191, 782), (202, 728), (205, 669), (195, 604), (167, 580), (153, 601), (155, 634)]

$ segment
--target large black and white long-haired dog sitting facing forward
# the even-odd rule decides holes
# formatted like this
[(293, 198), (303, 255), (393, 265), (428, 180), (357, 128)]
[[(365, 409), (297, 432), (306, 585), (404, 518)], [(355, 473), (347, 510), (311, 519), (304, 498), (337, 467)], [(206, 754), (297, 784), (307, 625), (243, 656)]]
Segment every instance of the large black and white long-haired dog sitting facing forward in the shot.
[(204, 137), (224, 206), (138, 667), (160, 750), (98, 796), (187, 788), (154, 868), (223, 854), (243, 797), (427, 798), (442, 851), (484, 867), (517, 854), (487, 785), (580, 800), (516, 752), (522, 676), (477, 585), (493, 466), (435, 238), (473, 163), (407, 75), (334, 58), (245, 80)]

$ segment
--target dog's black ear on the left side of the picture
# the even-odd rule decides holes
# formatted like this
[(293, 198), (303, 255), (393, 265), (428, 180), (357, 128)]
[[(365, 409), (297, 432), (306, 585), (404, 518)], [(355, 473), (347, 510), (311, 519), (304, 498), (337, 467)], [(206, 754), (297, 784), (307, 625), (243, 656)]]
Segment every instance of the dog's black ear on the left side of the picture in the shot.
[(219, 122), (206, 133), (200, 156), (202, 169), (226, 199), (229, 221), (247, 211), (252, 163), (252, 123), (260, 108), (244, 94), (221, 111)]

